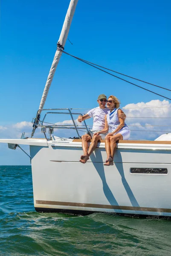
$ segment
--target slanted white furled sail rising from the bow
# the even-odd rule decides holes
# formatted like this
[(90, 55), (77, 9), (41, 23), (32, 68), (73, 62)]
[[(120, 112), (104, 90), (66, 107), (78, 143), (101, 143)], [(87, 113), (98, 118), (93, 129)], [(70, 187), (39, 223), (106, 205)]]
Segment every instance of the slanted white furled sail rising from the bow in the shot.
[[(67, 37), (68, 37), (68, 33), (69, 33), (69, 30), (70, 30), (70, 25), (71, 25), (71, 22), (72, 22), (72, 18), (74, 16), (74, 12), (75, 12), (75, 8), (76, 8), (77, 3), (78, 3), (78, 0), (71, 0), (70, 1), (70, 5), (69, 5), (68, 10), (67, 10), (67, 15), (65, 16), (64, 25), (62, 27), (61, 35), (60, 35), (59, 40), (58, 40), (58, 43), (60, 45), (62, 45), (63, 47), (64, 47), (65, 42), (66, 42)], [(62, 48), (58, 47), (58, 49), (62, 49)], [(44, 103), (46, 101), (46, 97), (47, 97), (47, 94), (48, 94), (48, 91), (49, 91), (49, 87), (52, 83), (52, 79), (53, 79), (53, 76), (55, 74), (55, 70), (56, 70), (56, 67), (58, 65), (59, 59), (61, 58), (61, 55), (62, 55), (62, 52), (59, 52), (58, 50), (56, 50), (55, 57), (54, 57), (53, 62), (52, 62), (52, 66), (51, 66), (50, 71), (49, 71), (49, 76), (47, 78), (46, 85), (45, 85), (45, 88), (44, 88), (44, 91), (43, 91), (43, 95), (42, 95), (42, 98), (41, 98), (41, 103), (40, 103), (39, 109), (43, 109), (43, 106), (44, 106)], [(39, 111), (39, 113), (41, 113), (41, 111)]]

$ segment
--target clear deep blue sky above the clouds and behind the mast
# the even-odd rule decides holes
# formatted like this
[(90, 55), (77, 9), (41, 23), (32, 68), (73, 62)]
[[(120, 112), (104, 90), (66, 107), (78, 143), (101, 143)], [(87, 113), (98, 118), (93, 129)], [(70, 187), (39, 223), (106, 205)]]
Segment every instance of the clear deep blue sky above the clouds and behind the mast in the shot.
[[(35, 117), (69, 2), (1, 1), (0, 125), (29, 122)], [(78, 0), (69, 33), (72, 44), (67, 41), (65, 50), (171, 88), (170, 10), (169, 0)], [(143, 86), (171, 98), (167, 91)], [(45, 107), (93, 108), (101, 93), (117, 96), (122, 107), (163, 101), (157, 95), (62, 55)], [(5, 151), (3, 159), (8, 158), (7, 154)]]

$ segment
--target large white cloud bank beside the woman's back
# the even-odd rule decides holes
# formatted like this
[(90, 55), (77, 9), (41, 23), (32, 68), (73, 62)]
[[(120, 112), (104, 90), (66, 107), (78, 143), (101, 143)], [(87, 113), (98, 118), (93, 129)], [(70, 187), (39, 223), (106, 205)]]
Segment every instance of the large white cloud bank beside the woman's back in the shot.
[(168, 100), (131, 103), (122, 109), (127, 116), (126, 123), (132, 130), (130, 139), (154, 140), (171, 131), (171, 104)]

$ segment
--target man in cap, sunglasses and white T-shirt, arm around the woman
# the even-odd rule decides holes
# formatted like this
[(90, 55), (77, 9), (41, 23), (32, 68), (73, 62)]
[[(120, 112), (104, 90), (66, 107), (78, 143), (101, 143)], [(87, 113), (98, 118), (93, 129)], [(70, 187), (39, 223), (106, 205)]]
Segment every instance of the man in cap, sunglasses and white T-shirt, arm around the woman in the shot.
[[(78, 122), (82, 122), (90, 117), (93, 117), (93, 128), (89, 130), (87, 134), (84, 134), (82, 138), (82, 148), (84, 155), (81, 155), (80, 162), (86, 163), (90, 157), (90, 154), (95, 150), (97, 146), (98, 140), (105, 139), (107, 134), (100, 134), (100, 131), (104, 129), (105, 125), (105, 115), (110, 111), (110, 109), (106, 108), (107, 97), (104, 94), (100, 94), (97, 102), (99, 103), (99, 107), (91, 109), (87, 114), (84, 116), (78, 116)], [(124, 113), (119, 115), (120, 118), (125, 119), (126, 116)], [(99, 135), (96, 135), (97, 133)], [(94, 135), (95, 134), (95, 135)], [(92, 143), (90, 144), (88, 150), (88, 140), (92, 139)]]

